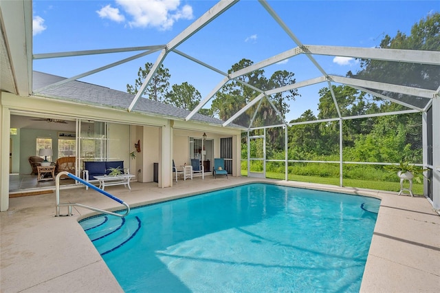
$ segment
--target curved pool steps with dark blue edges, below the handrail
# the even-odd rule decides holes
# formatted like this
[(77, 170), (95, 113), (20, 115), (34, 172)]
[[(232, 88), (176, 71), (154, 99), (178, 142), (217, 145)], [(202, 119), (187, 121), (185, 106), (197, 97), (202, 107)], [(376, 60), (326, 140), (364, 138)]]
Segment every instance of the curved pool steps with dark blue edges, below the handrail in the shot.
[[(107, 218), (107, 219), (105, 219)], [(128, 243), (140, 230), (139, 217), (96, 217), (80, 223), (101, 255)]]

